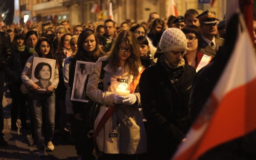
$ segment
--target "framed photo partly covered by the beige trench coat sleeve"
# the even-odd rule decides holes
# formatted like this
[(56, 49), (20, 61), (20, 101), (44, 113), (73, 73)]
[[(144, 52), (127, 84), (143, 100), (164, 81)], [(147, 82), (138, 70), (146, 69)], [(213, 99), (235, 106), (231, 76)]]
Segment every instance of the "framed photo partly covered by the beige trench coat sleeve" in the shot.
[(80, 102), (89, 101), (89, 97), (86, 96), (86, 86), (89, 74), (91, 74), (92, 70), (94, 70), (94, 67), (95, 63), (92, 62), (76, 62), (76, 71), (74, 76), (71, 100)]

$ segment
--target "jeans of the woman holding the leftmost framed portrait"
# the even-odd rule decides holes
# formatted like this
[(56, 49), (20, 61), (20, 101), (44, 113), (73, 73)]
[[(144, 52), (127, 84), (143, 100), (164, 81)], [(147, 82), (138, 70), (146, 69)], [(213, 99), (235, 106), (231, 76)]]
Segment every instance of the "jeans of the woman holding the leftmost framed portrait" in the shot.
[[(37, 148), (44, 149), (44, 142), (47, 143), (51, 141), (54, 135), (55, 93), (37, 93), (30, 91), (29, 99), (37, 138)], [(42, 130), (43, 119), (45, 122), (45, 133), (43, 133)]]

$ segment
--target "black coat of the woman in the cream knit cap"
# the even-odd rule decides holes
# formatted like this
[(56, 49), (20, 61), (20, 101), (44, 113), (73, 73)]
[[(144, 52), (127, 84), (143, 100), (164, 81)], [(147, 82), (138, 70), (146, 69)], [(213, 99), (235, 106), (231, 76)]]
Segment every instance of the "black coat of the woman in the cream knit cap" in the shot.
[(149, 159), (169, 159), (190, 127), (189, 96), (195, 70), (185, 64), (178, 81), (158, 61), (147, 68), (139, 88), (143, 114), (147, 119)]

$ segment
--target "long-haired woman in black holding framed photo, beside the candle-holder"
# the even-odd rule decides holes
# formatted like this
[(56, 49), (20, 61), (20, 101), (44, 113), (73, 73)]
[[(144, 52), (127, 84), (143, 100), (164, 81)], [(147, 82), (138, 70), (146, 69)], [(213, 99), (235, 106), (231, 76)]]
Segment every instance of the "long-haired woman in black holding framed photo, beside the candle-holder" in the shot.
[[(81, 31), (77, 41), (77, 52), (76, 55), (69, 60), (69, 87), (70, 93), (72, 93), (76, 62), (96, 62), (99, 57), (103, 56), (104, 53), (99, 48), (98, 38), (91, 29), (85, 29)], [(84, 88), (84, 86), (81, 86)], [(79, 101), (72, 101), (72, 108), (75, 115), (74, 120), (74, 130), (76, 136), (74, 140), (74, 145), (76, 146), (77, 155), (81, 156), (82, 159), (95, 160), (92, 155), (92, 150), (94, 149), (93, 139), (87, 137), (89, 132), (89, 127), (86, 126), (84, 117), (84, 106), (86, 103)]]

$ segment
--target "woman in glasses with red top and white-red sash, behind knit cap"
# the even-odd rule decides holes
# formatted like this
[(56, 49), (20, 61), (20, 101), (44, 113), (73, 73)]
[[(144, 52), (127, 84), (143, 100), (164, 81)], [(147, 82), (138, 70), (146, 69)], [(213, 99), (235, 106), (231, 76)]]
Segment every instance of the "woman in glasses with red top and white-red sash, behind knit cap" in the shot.
[(193, 66), (198, 71), (209, 64), (212, 57), (199, 52), (202, 36), (197, 26), (186, 25), (182, 31), (187, 38), (187, 54), (184, 56), (185, 63)]

